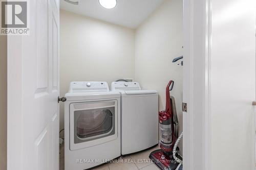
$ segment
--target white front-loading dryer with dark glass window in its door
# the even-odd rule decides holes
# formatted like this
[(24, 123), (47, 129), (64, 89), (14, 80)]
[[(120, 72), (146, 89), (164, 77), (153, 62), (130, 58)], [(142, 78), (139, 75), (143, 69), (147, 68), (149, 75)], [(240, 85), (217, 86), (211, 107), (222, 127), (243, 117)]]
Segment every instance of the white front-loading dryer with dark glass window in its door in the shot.
[(106, 82), (71, 82), (65, 97), (65, 169), (87, 169), (119, 157), (120, 93)]

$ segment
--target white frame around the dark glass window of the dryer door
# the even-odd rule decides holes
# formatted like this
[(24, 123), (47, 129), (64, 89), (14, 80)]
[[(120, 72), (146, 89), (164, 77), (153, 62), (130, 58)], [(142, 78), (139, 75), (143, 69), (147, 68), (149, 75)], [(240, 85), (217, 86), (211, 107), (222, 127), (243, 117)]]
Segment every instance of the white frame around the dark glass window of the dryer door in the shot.
[[(99, 134), (96, 136), (92, 136), (89, 138), (85, 138), (82, 142), (76, 142), (76, 137), (79, 140), (83, 140), (81, 137), (77, 136), (77, 131), (75, 128), (75, 112), (76, 111), (87, 111), (87, 110), (96, 110), (96, 109), (104, 109), (104, 108), (112, 108), (114, 107), (114, 129), (108, 133)], [(71, 103), (70, 104), (70, 150), (79, 150), (82, 148), (92, 147), (94, 145), (98, 145), (101, 143), (109, 142), (117, 139), (117, 130), (118, 130), (118, 108), (117, 108), (117, 100), (111, 101), (97, 101), (97, 102), (82, 102), (82, 103)], [(113, 130), (113, 131), (112, 131)]]

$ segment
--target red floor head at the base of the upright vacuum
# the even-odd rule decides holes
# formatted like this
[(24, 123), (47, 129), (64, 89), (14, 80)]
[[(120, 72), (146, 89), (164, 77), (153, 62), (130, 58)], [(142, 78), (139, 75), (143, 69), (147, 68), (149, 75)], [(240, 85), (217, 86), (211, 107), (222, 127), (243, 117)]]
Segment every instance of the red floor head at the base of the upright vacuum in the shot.
[[(180, 155), (177, 155), (177, 157), (182, 160)], [(152, 159), (162, 170), (176, 170), (180, 164), (173, 158), (172, 155), (166, 156), (162, 150), (153, 151), (150, 154), (150, 159)]]

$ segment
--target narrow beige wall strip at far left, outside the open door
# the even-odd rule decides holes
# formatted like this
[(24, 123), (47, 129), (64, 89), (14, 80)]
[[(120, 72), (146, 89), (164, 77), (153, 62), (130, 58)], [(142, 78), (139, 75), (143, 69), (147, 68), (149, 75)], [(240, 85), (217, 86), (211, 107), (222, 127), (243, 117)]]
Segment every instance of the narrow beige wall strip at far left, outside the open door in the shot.
[(0, 36), (0, 169), (7, 169), (7, 37)]

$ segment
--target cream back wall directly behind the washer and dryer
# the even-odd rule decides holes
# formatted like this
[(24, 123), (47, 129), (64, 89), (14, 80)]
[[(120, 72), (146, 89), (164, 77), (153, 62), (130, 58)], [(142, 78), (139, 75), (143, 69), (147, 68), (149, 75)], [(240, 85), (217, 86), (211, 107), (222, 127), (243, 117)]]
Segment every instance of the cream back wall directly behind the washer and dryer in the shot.
[[(60, 95), (72, 81), (134, 78), (135, 31), (60, 11)], [(60, 106), (63, 128), (63, 104)]]

